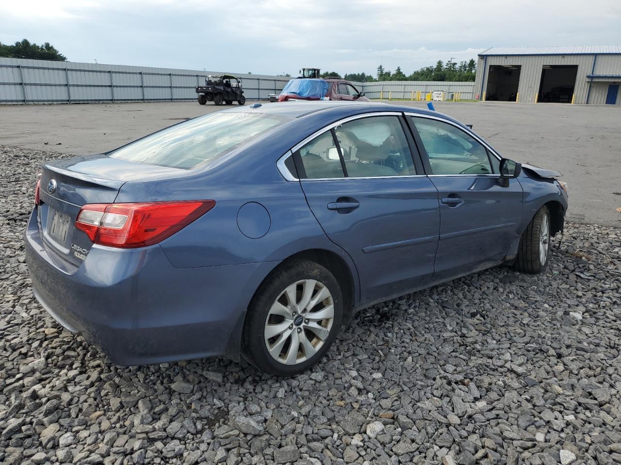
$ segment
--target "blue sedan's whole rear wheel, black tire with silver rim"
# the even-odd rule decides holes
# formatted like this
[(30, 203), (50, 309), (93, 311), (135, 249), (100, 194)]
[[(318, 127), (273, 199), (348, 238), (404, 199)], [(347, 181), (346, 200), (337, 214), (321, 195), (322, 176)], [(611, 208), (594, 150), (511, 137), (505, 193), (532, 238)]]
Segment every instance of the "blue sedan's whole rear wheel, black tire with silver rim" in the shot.
[(243, 350), (258, 370), (294, 376), (324, 357), (342, 317), (342, 294), (332, 273), (309, 260), (292, 262), (276, 269), (256, 292), (243, 327)]

